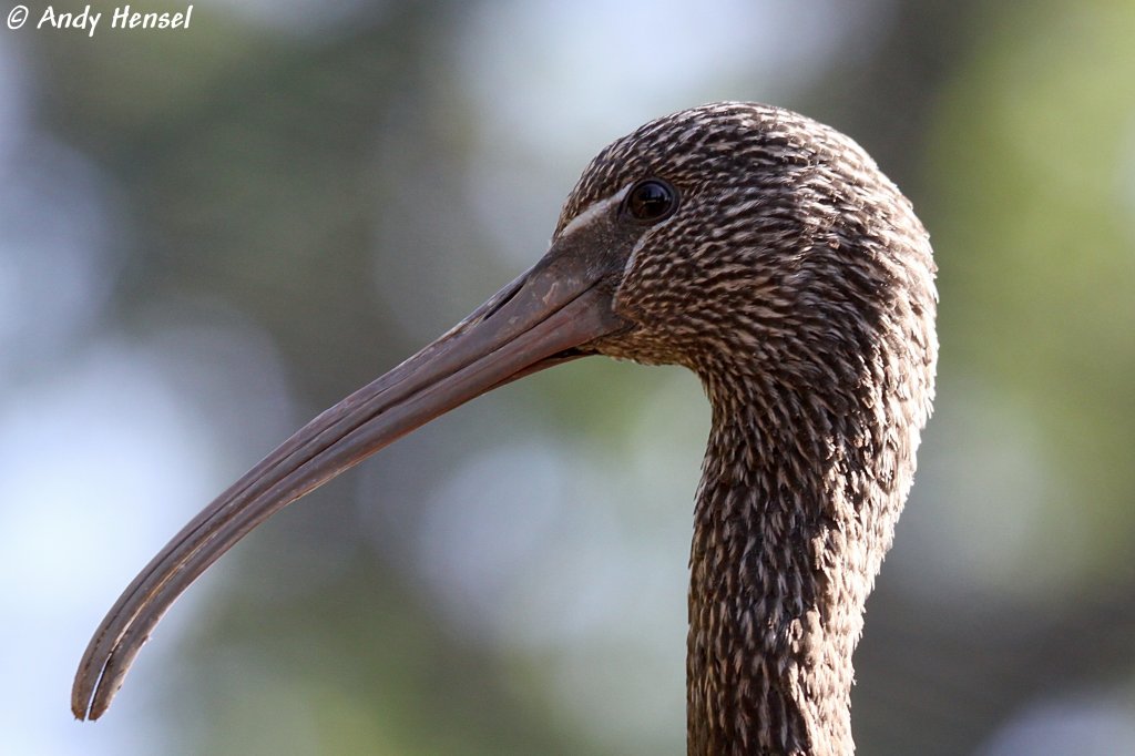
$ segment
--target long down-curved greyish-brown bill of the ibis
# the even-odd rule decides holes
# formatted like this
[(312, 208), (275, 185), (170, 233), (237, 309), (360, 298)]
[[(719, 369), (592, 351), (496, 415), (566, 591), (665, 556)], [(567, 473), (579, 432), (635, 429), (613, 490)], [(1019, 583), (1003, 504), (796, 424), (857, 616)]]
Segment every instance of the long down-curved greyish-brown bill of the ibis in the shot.
[[(606, 267), (549, 252), (436, 342), (300, 429), (195, 516), (95, 631), (72, 690), (77, 719), (107, 711), (154, 625), (221, 554), (287, 504), (469, 400), (577, 356), (628, 326)], [(581, 348), (582, 347), (582, 348)]]

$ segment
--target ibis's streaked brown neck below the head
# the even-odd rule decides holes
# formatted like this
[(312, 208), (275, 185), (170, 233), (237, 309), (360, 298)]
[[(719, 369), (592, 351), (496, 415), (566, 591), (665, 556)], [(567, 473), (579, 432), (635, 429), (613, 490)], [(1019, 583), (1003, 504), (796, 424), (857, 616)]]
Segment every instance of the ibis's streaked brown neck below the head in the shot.
[[(894, 460), (873, 456), (888, 444), (868, 425), (869, 408), (836, 417), (824, 402), (770, 406), (707, 389), (714, 422), (690, 556), (689, 753), (851, 754), (851, 654), (901, 507), (900, 481), (878, 468)], [(723, 393), (730, 401), (715, 400)]]

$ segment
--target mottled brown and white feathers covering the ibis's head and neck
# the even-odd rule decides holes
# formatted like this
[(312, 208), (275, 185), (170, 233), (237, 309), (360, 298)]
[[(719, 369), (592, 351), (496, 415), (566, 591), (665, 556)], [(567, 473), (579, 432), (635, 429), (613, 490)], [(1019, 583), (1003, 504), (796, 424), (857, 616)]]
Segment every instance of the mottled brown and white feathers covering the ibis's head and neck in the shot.
[(603, 150), (561, 215), (658, 177), (678, 211), (597, 351), (676, 363), (713, 406), (690, 554), (690, 754), (854, 751), (851, 655), (934, 394), (935, 266), (910, 203), (850, 138), (716, 103)]

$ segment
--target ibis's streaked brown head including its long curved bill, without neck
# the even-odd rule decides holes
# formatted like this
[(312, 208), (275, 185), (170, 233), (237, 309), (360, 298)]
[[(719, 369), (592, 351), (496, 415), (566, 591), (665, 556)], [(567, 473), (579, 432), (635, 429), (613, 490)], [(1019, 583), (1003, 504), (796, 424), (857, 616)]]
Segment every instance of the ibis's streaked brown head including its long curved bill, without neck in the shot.
[(755, 104), (651, 121), (596, 157), (531, 270), (309, 422), (174, 537), (92, 638), (73, 711), (102, 714), (169, 605), (257, 524), (487, 390), (595, 353), (684, 364), (711, 383), (827, 380), (891, 342), (925, 366), (933, 309), (925, 232), (847, 137)]

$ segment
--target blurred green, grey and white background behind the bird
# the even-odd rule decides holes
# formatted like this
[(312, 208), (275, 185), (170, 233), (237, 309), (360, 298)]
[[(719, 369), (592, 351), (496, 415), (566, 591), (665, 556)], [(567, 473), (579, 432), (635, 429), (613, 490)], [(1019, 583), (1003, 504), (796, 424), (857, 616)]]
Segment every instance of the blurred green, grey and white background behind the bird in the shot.
[(6, 753), (683, 753), (708, 408), (604, 360), (289, 507), (103, 720), (68, 696), (192, 514), (535, 261), (599, 148), (720, 99), (852, 135), (941, 269), (859, 751), (1135, 753), (1135, 3), (95, 3), (94, 36), (45, 7), (0, 26)]

